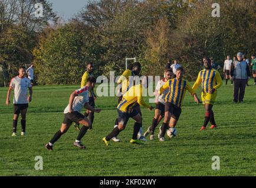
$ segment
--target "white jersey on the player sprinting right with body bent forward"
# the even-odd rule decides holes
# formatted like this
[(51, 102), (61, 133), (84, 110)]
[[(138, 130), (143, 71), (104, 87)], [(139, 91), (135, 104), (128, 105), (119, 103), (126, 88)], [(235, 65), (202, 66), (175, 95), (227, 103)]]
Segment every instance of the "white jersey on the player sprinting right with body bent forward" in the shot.
[[(89, 90), (87, 86), (84, 86), (81, 89), (77, 89), (76, 93), (78, 96), (74, 98), (72, 109), (75, 112), (81, 112), (84, 108), (84, 104), (89, 101)], [(68, 113), (70, 109), (70, 105), (65, 108), (64, 113)]]

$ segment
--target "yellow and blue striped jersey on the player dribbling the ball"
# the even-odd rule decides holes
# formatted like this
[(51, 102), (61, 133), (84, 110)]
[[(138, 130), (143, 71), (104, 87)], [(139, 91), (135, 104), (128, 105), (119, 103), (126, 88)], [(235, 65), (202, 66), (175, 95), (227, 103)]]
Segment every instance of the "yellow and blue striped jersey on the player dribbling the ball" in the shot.
[(188, 85), (188, 82), (183, 79), (170, 79), (168, 80), (165, 85), (163, 85), (160, 90), (159, 94), (162, 94), (164, 90), (168, 89), (169, 91), (165, 96), (165, 102), (170, 102), (173, 105), (178, 106), (179, 108), (182, 106), (182, 102), (184, 99), (184, 96), (186, 94), (186, 90), (193, 95), (195, 92), (191, 88), (191, 86)]

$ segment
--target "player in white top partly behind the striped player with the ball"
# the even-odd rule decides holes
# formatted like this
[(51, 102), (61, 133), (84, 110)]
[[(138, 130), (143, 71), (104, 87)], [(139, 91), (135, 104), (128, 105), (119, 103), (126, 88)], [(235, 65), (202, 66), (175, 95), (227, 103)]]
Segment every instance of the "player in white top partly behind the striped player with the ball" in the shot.
[(155, 109), (155, 116), (152, 120), (152, 125), (147, 129), (147, 131), (143, 134), (143, 136), (147, 136), (150, 133), (150, 140), (154, 139), (154, 133), (156, 126), (160, 123), (160, 121), (163, 119), (165, 116), (165, 96), (168, 93), (169, 89), (166, 89), (162, 95), (159, 96), (158, 91), (160, 88), (169, 80), (172, 78), (172, 70), (171, 69), (166, 69), (165, 70), (165, 78), (162, 80), (159, 80), (156, 85), (156, 90), (155, 90), (155, 103), (156, 103), (156, 109)]

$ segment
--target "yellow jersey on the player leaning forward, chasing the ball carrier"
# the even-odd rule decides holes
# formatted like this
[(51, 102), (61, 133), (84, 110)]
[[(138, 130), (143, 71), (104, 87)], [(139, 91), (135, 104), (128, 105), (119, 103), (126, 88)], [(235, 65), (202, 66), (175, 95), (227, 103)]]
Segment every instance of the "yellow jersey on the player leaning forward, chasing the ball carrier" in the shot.
[(138, 103), (140, 106), (150, 108), (150, 105), (143, 100), (143, 86), (132, 86), (124, 95), (122, 101), (117, 106), (117, 109), (125, 113), (132, 112), (133, 106)]

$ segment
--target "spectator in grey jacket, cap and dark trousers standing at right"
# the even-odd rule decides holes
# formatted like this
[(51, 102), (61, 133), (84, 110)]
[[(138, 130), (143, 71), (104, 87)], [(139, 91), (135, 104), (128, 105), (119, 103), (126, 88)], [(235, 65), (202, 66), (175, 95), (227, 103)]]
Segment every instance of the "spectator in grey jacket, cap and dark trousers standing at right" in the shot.
[(234, 103), (244, 102), (245, 86), (250, 76), (250, 69), (246, 61), (242, 60), (242, 53), (237, 53), (237, 61), (232, 62), (230, 75), (234, 79)]

